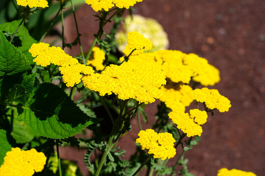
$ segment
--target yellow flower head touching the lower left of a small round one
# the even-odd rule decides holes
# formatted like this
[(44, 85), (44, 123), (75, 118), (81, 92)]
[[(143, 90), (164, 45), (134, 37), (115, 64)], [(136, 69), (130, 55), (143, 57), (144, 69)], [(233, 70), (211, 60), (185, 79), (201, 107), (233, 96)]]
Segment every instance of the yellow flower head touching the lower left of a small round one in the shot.
[(188, 113), (173, 110), (169, 112), (168, 116), (177, 125), (177, 128), (185, 132), (188, 137), (201, 136), (202, 127)]

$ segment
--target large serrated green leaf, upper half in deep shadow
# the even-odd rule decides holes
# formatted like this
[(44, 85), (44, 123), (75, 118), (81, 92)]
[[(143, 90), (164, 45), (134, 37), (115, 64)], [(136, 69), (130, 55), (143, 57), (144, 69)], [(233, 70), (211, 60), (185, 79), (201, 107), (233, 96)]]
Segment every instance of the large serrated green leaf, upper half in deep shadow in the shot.
[(35, 133), (49, 138), (67, 138), (93, 124), (93, 118), (81, 111), (61, 88), (50, 83), (34, 88), (18, 111)]

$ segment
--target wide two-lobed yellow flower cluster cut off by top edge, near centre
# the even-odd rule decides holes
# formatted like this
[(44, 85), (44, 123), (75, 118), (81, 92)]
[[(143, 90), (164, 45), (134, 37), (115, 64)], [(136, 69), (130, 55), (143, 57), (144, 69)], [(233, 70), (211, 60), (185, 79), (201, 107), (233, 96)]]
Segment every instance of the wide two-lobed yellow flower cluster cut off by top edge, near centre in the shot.
[(108, 11), (111, 7), (114, 6), (114, 4), (118, 8), (129, 8), (130, 6), (133, 6), (136, 2), (141, 2), (143, 0), (85, 0), (85, 3), (88, 5), (91, 5), (93, 10), (100, 11), (104, 9), (105, 11)]

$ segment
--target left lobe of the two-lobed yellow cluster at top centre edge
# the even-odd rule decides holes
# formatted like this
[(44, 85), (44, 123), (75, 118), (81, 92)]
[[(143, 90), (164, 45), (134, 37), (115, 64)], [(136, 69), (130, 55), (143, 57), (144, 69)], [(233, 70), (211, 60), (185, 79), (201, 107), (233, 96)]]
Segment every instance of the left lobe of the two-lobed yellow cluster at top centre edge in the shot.
[(95, 10), (96, 12), (102, 9), (108, 11), (108, 9), (114, 6), (112, 0), (85, 0), (85, 3), (91, 5), (93, 10)]

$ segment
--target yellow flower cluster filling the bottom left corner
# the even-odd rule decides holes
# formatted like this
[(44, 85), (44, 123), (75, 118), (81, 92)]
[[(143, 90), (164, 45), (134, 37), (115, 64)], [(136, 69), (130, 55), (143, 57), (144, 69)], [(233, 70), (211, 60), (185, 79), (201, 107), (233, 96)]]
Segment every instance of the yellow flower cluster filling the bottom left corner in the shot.
[(12, 148), (4, 157), (0, 176), (32, 176), (34, 172), (41, 172), (45, 163), (46, 156), (42, 152)]

